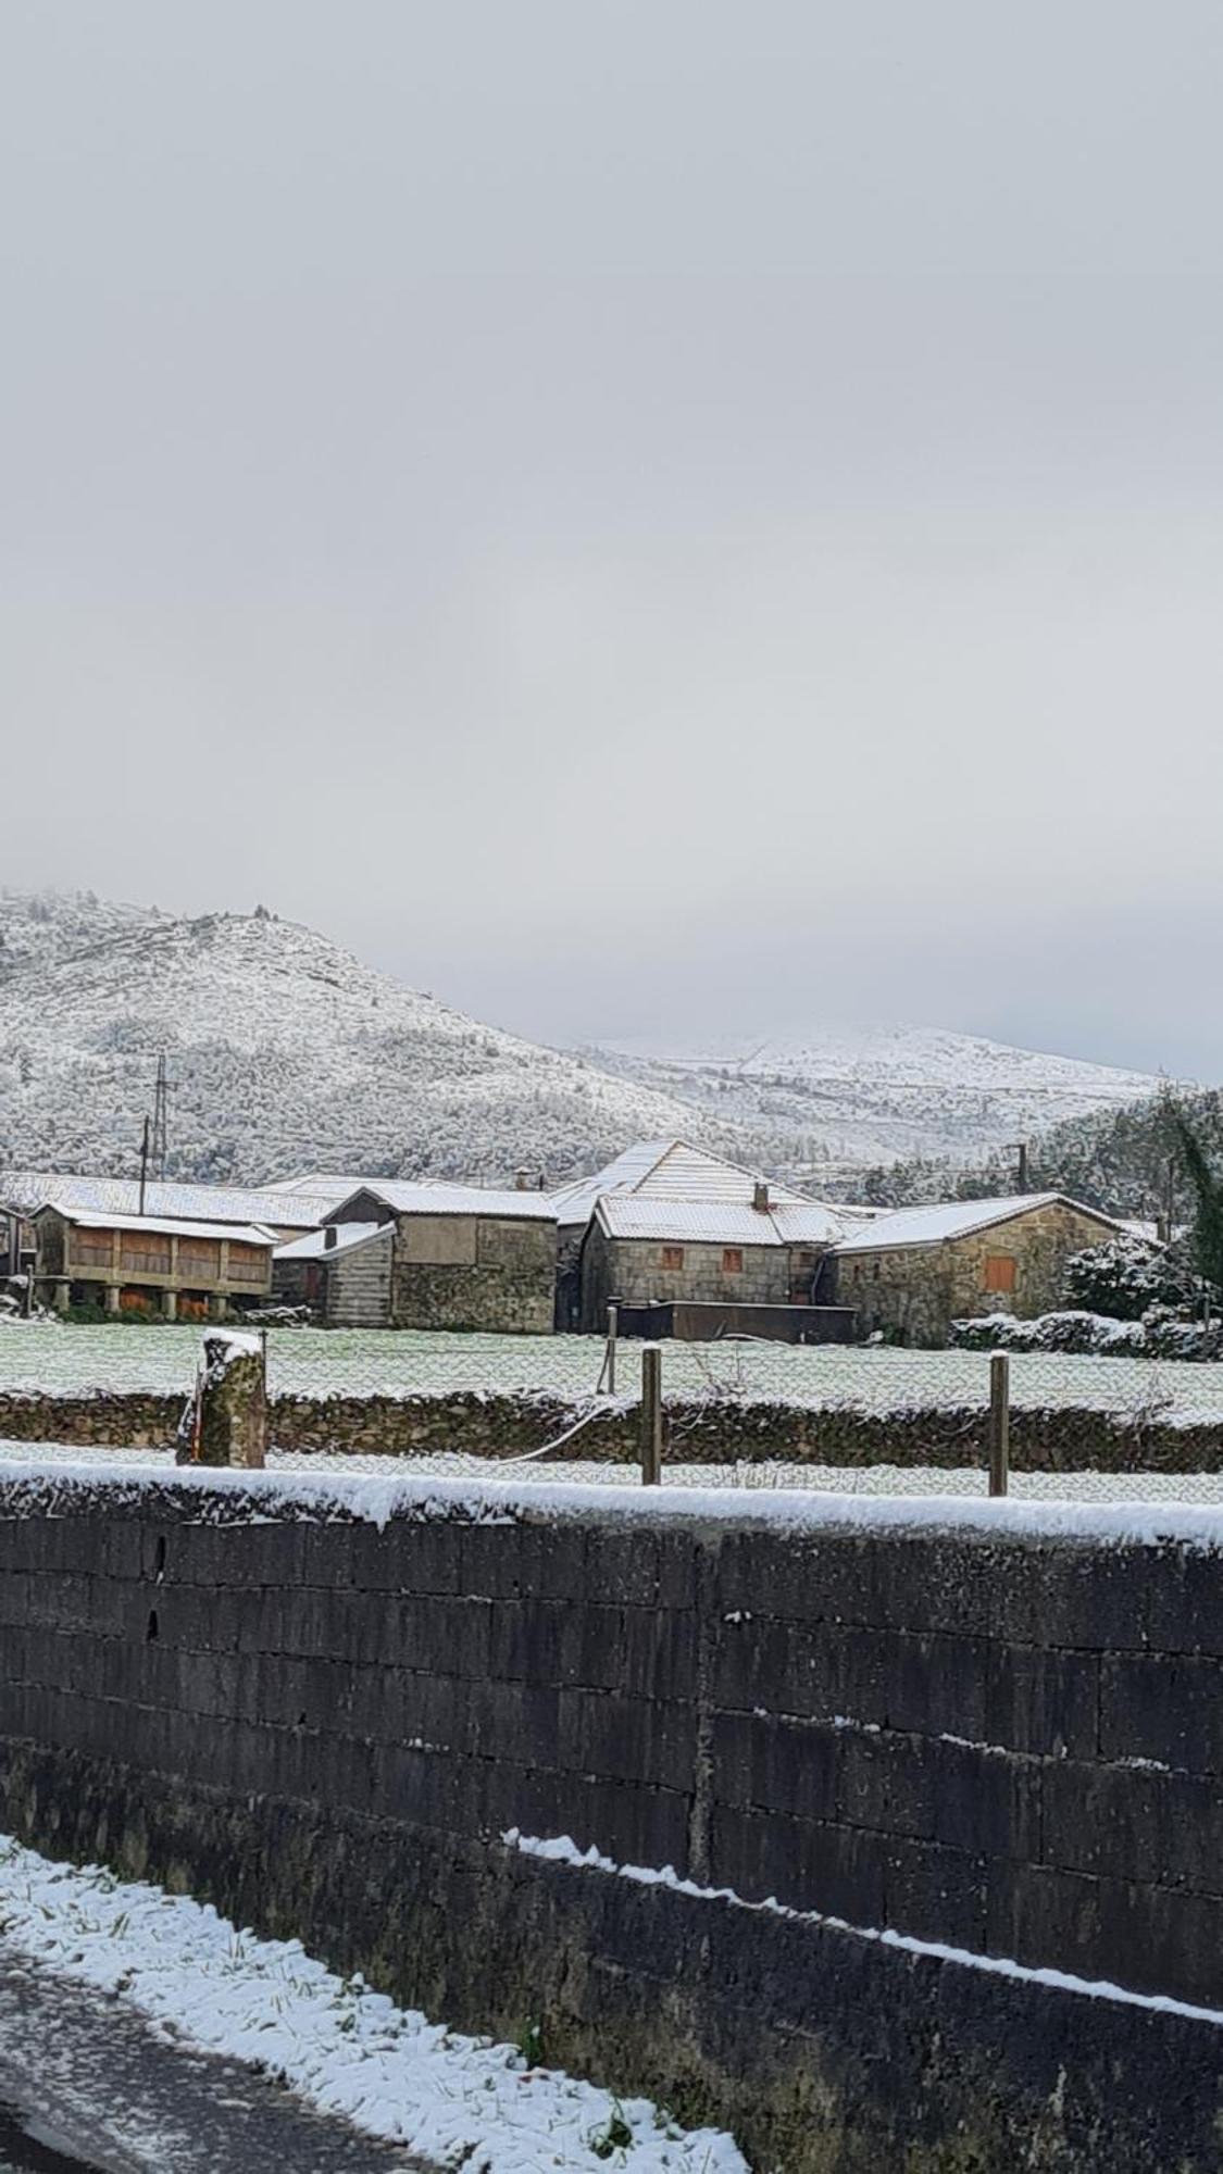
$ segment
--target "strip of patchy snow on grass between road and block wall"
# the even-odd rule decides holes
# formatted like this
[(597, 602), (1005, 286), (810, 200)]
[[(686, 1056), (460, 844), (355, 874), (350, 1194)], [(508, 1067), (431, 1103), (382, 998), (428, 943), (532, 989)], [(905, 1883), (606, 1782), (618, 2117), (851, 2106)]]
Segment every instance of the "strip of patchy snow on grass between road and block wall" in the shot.
[(248, 2061), (324, 2113), (464, 2174), (746, 2174), (733, 2139), (681, 2131), (514, 2046), (396, 2009), (298, 1941), (235, 1931), (211, 1904), (54, 1865), (0, 1837), (4, 1944), (139, 2009), (159, 2035)]

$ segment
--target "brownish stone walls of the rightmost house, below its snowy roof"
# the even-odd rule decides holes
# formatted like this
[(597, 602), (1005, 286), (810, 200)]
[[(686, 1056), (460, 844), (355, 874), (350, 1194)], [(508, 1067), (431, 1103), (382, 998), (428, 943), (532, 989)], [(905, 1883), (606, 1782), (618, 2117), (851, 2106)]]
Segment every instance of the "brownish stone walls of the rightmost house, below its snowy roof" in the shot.
[[(938, 1346), (947, 1344), (953, 1320), (1051, 1313), (1062, 1304), (1068, 1257), (1105, 1237), (1095, 1215), (1053, 1202), (940, 1246), (836, 1254), (829, 1274), (836, 1302), (857, 1309), (864, 1335), (884, 1328), (905, 1344)], [(988, 1259), (1014, 1261), (1014, 1291), (986, 1289)]]

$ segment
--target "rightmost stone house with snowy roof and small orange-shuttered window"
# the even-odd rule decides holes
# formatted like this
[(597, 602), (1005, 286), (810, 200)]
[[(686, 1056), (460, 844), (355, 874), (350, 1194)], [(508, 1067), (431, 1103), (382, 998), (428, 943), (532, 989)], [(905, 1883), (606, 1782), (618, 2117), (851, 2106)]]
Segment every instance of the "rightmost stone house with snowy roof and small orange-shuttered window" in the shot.
[(853, 1307), (864, 1335), (881, 1328), (903, 1344), (940, 1346), (955, 1320), (1051, 1313), (1068, 1257), (1105, 1246), (1121, 1228), (1064, 1194), (897, 1209), (836, 1246), (820, 1296)]

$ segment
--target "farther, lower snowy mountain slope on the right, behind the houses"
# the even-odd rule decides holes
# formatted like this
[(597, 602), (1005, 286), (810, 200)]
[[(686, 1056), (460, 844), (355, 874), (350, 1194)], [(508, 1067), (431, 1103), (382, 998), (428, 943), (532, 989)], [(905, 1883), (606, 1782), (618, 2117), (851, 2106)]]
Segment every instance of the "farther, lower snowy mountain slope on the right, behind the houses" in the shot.
[(751, 1130), (818, 1185), (912, 1157), (973, 1161), (1051, 1124), (1145, 1100), (1158, 1080), (1075, 1057), (923, 1026), (805, 1037), (607, 1041), (585, 1052), (625, 1080)]

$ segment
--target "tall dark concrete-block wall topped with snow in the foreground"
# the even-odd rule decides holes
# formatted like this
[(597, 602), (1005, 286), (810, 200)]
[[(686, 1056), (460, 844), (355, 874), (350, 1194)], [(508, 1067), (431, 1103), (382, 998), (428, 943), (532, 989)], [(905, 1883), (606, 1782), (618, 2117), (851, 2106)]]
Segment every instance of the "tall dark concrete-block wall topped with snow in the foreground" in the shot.
[(1216, 2167), (1219, 1515), (30, 1465), (0, 1637), (0, 1824), (762, 2170)]

